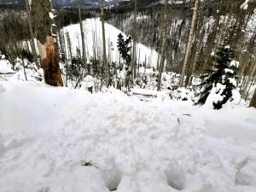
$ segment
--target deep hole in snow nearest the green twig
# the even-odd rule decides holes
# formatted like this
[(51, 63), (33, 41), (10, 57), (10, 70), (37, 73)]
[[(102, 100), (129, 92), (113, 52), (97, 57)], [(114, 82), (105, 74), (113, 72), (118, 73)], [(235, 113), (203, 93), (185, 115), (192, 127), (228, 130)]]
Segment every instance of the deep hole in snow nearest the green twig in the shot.
[(111, 170), (102, 171), (102, 180), (109, 191), (115, 191), (118, 189), (119, 183), (121, 182), (122, 173), (117, 167)]

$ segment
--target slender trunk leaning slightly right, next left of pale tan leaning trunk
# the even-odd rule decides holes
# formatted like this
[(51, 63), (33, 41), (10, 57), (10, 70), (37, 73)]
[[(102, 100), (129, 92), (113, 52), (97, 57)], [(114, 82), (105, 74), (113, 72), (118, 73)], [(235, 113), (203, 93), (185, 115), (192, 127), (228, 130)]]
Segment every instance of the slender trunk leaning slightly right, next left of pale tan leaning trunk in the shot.
[(168, 0), (166, 0), (165, 5), (165, 14), (164, 14), (164, 25), (163, 25), (163, 32), (162, 32), (162, 44), (160, 48), (160, 67), (159, 67), (159, 74), (158, 74), (158, 81), (157, 81), (157, 90), (160, 90), (161, 85), (161, 78), (162, 78), (162, 72), (163, 72), (163, 66), (165, 62), (165, 45), (166, 45), (166, 28), (167, 28), (167, 4)]

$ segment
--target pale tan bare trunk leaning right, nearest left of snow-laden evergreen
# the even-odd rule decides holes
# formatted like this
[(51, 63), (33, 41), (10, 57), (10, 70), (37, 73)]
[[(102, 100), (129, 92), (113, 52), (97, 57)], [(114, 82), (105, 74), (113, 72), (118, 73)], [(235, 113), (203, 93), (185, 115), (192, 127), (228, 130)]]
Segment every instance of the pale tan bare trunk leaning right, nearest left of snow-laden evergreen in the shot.
[(185, 59), (184, 59), (184, 63), (183, 63), (183, 71), (182, 71), (180, 82), (179, 82), (180, 87), (183, 86), (183, 80), (184, 80), (186, 67), (187, 67), (187, 62), (188, 62), (188, 58), (189, 58), (189, 50), (190, 50), (190, 46), (191, 46), (191, 42), (192, 42), (193, 32), (194, 32), (194, 29), (195, 29), (195, 19), (196, 19), (197, 9), (198, 9), (198, 0), (195, 0), (194, 15), (193, 15), (193, 18), (192, 18), (192, 24), (191, 24), (191, 28), (190, 28), (190, 32), (189, 32), (189, 42), (187, 44)]

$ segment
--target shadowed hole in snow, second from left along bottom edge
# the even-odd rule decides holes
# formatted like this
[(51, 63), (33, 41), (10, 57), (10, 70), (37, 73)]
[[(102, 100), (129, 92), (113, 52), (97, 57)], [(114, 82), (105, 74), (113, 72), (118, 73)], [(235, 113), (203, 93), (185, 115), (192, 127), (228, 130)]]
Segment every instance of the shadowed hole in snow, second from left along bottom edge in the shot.
[(177, 190), (183, 190), (184, 177), (177, 171), (166, 171), (167, 182), (170, 187)]

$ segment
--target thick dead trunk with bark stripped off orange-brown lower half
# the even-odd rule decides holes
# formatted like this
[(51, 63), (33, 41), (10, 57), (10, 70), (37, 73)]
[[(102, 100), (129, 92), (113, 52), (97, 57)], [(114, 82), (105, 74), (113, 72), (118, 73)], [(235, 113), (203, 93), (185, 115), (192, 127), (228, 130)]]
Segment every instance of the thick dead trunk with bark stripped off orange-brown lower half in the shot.
[(51, 5), (45, 0), (29, 0), (31, 5), (32, 24), (38, 39), (38, 49), (41, 64), (44, 69), (44, 81), (52, 86), (63, 86), (59, 56), (55, 48), (55, 38), (52, 36)]

